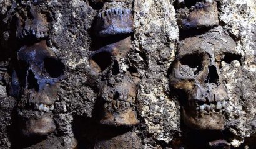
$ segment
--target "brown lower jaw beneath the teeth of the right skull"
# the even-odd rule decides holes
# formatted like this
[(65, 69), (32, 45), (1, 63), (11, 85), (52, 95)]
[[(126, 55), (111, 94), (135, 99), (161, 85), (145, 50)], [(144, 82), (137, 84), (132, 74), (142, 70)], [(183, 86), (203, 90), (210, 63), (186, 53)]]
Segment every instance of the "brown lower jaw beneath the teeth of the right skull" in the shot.
[(224, 130), (224, 118), (221, 114), (189, 114), (185, 109), (182, 109), (183, 121), (185, 125), (191, 129), (199, 130)]

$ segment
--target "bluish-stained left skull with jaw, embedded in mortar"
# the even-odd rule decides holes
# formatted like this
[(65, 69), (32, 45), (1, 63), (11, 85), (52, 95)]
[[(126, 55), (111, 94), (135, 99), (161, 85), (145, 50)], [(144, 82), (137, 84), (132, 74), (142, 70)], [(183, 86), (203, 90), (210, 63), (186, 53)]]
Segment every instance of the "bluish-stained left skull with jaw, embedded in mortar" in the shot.
[(25, 136), (48, 135), (55, 130), (52, 111), (64, 76), (64, 65), (49, 50), (45, 40), (21, 47), (17, 59), (21, 68), (17, 72), (20, 72), (18, 111), (22, 133)]

